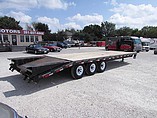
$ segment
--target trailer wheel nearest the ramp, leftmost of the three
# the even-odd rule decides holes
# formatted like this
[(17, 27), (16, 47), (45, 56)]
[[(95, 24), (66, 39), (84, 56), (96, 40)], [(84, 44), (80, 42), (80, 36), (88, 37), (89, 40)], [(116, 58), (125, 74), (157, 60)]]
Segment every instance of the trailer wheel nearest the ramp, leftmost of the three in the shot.
[(84, 66), (75, 65), (71, 68), (71, 75), (74, 79), (80, 79), (84, 75)]

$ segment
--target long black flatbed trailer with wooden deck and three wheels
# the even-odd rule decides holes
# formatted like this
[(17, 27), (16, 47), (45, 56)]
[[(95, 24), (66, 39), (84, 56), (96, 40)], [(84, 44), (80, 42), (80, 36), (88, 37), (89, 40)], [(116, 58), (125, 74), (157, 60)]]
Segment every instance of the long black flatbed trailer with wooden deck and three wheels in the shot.
[(84, 53), (59, 54), (55, 56), (32, 56), (9, 58), (11, 71), (18, 71), (24, 75), (24, 80), (38, 82), (42, 78), (48, 78), (70, 68), (74, 79), (80, 79), (86, 75), (94, 75), (96, 72), (104, 72), (106, 62), (116, 59), (135, 57), (136, 52), (123, 51), (97, 51)]

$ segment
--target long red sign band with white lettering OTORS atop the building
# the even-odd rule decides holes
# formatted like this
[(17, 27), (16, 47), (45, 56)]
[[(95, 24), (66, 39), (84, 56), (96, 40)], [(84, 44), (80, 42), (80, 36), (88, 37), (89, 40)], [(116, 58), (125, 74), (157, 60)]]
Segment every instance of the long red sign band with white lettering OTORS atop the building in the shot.
[(0, 29), (0, 34), (44, 35), (44, 32), (29, 30)]

